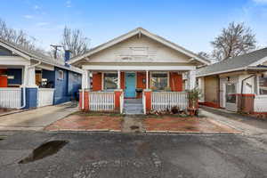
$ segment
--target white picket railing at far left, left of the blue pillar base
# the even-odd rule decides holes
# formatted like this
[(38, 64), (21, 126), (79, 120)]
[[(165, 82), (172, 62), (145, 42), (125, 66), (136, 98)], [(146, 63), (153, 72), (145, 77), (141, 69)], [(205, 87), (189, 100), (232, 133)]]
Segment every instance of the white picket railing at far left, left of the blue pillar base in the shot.
[(0, 108), (18, 109), (20, 106), (20, 88), (0, 88)]

